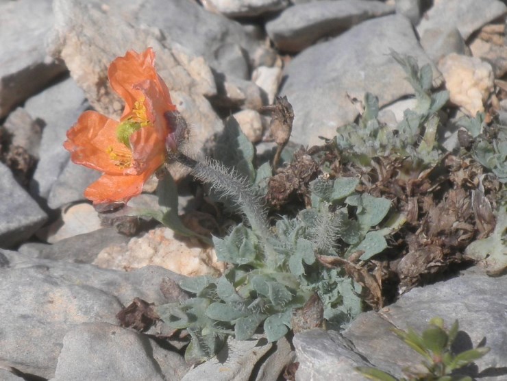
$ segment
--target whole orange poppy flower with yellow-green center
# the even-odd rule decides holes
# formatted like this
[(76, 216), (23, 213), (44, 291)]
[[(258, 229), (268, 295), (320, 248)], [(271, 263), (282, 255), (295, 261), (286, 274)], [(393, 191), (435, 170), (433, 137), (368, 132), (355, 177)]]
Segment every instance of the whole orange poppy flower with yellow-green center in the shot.
[(155, 69), (155, 53), (128, 51), (108, 71), (113, 90), (125, 100), (120, 121), (86, 111), (67, 132), (64, 147), (76, 164), (103, 175), (84, 196), (93, 204), (127, 202), (139, 195), (148, 177), (175, 149), (176, 107)]

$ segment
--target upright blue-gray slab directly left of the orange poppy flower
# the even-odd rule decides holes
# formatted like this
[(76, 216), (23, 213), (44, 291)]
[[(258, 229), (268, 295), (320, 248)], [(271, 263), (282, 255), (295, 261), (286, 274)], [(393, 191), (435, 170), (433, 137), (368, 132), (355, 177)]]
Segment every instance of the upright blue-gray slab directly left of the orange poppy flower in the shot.
[(71, 78), (47, 88), (25, 103), (25, 110), (32, 119), (41, 119), (45, 123), (40, 160), (30, 184), (32, 195), (49, 196), (51, 186), (69, 161), (69, 152), (63, 147), (66, 132), (86, 108), (88, 103), (84, 93)]

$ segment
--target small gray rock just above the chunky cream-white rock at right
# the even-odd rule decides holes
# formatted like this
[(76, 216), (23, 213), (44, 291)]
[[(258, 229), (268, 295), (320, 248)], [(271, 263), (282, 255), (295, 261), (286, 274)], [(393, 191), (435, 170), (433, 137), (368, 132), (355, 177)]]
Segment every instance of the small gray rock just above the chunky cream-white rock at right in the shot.
[(421, 36), (421, 45), (435, 64), (450, 53), (467, 51), (465, 40), (456, 28), (428, 28)]

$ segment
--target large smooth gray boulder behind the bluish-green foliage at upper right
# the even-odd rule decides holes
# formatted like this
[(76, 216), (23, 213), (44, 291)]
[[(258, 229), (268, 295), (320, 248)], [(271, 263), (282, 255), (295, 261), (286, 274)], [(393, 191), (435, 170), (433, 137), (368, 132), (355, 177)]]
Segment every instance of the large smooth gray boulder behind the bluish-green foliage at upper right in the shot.
[(368, 91), (379, 97), (381, 107), (412, 94), (406, 74), (391, 56), (393, 50), (414, 57), (419, 66), (431, 63), (412, 24), (399, 14), (364, 21), (295, 57), (286, 67), (287, 79), (280, 90), (294, 109), (291, 139), (304, 145), (321, 144), (319, 136), (332, 138), (336, 127), (354, 121), (358, 110), (347, 93), (363, 99)]

